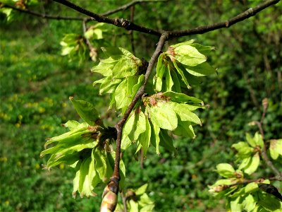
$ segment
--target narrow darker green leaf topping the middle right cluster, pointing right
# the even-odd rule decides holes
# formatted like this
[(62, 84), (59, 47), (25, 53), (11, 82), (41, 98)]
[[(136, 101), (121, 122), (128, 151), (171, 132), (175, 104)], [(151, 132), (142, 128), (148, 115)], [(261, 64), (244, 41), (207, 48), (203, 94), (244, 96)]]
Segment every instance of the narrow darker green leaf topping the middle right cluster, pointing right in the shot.
[[(196, 104), (196, 105), (199, 105), (199, 104), (202, 105), (204, 103), (202, 100), (197, 99), (195, 97), (191, 97), (189, 95), (185, 95), (184, 93), (176, 93), (176, 92), (173, 92), (173, 91), (166, 91), (166, 92), (163, 93), (163, 95), (165, 97), (168, 97), (169, 100), (171, 100), (173, 102), (189, 103), (189, 104)], [(197, 107), (197, 108), (199, 108), (199, 107)]]

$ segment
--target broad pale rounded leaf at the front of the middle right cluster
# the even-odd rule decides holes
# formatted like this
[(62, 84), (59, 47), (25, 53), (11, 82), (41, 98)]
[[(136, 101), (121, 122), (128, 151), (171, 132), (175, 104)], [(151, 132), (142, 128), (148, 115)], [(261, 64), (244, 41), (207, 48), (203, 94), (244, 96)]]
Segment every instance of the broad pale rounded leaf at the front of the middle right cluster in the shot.
[(157, 105), (150, 107), (149, 116), (152, 123), (162, 129), (174, 130), (177, 127), (176, 112), (167, 102), (157, 102)]

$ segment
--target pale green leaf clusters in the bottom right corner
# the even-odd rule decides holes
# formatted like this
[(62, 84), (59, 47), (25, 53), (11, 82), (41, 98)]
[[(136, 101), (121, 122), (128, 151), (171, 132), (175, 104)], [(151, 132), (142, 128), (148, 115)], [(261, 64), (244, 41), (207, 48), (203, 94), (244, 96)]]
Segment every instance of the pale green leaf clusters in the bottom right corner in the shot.
[[(238, 170), (228, 163), (216, 166), (216, 172), (225, 179), (219, 179), (210, 186), (209, 192), (226, 198), (226, 209), (228, 211), (281, 211), (282, 196), (278, 190), (270, 184), (269, 179), (258, 179), (254, 182), (247, 181), (244, 175), (252, 175), (259, 167), (260, 157), (264, 141), (259, 133), (254, 137), (246, 135), (247, 141), (233, 144), (236, 149)], [(274, 142), (275, 141), (275, 142)], [(271, 158), (278, 158), (281, 154), (282, 139), (272, 140), (274, 146), (269, 146)], [(272, 152), (272, 153), (271, 153)], [(249, 183), (248, 183), (249, 182)]]

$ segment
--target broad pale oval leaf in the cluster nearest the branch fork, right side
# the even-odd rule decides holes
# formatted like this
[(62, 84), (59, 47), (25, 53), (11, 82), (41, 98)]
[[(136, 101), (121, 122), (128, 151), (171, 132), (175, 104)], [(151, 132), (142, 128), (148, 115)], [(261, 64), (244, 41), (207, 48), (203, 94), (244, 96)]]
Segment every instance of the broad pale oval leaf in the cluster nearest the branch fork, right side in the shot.
[(207, 60), (204, 54), (201, 54), (195, 47), (190, 45), (181, 45), (174, 49), (176, 59), (187, 66), (197, 66)]

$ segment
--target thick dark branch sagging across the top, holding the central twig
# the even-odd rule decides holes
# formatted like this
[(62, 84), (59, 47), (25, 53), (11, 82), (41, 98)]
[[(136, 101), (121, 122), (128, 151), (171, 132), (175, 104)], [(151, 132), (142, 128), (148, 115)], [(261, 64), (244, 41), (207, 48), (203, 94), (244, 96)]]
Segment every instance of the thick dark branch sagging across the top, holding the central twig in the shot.
[(78, 11), (82, 14), (85, 14), (87, 16), (90, 16), (92, 20), (96, 20), (98, 22), (102, 23), (109, 23), (112, 25), (116, 25), (121, 28), (125, 28), (126, 30), (134, 30), (138, 31), (141, 33), (147, 33), (151, 35), (157, 35), (161, 36), (162, 33), (166, 32), (168, 33), (168, 39), (171, 39), (172, 37), (181, 37), (181, 36), (186, 36), (186, 35), (196, 35), (196, 34), (204, 34), (207, 32), (210, 32), (212, 30), (218, 30), (220, 28), (228, 28), (231, 25), (234, 25), (235, 23), (238, 23), (242, 20), (245, 20), (247, 18), (250, 18), (252, 16), (255, 16), (257, 13), (260, 11), (264, 10), (265, 8), (277, 4), (280, 0), (269, 0), (264, 2), (263, 4), (259, 4), (255, 8), (249, 8), (247, 11), (238, 14), (238, 16), (235, 16), (229, 20), (225, 20), (219, 23), (214, 23), (212, 25), (204, 25), (204, 26), (199, 26), (197, 28), (193, 28), (190, 30), (181, 30), (181, 31), (164, 31), (164, 30), (154, 30), (152, 28), (146, 28), (141, 25), (137, 25), (133, 22), (130, 22), (130, 20), (126, 20), (123, 18), (107, 18), (105, 16), (100, 16), (97, 13), (92, 13), (91, 11), (88, 11), (85, 8), (82, 8), (80, 6), (77, 6), (70, 1), (67, 0), (53, 0), (56, 1), (60, 4), (63, 4), (65, 6), (68, 6), (70, 8), (73, 8), (75, 11)]

